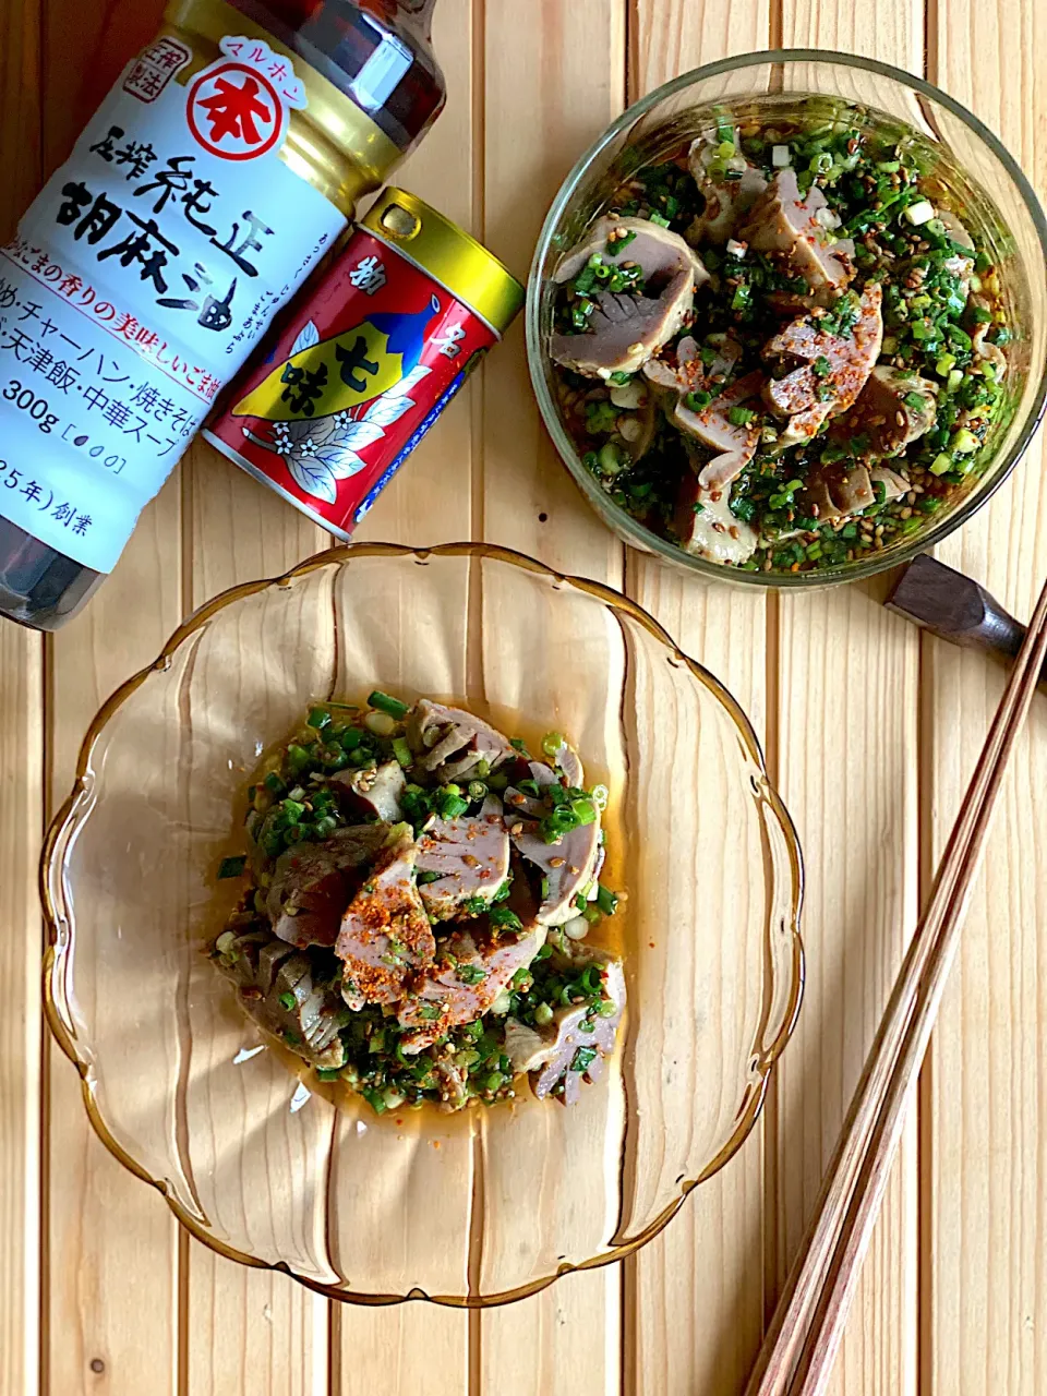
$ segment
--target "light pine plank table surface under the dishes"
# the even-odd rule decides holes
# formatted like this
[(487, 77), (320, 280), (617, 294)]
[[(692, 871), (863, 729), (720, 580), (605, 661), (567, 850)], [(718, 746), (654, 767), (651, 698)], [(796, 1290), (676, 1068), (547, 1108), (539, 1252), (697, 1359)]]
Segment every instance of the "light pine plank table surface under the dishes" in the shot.
[[(156, 0), (0, 0), (3, 236), (154, 31)], [(1041, 0), (443, 0), (447, 113), (402, 181), (525, 272), (560, 180), (627, 99), (732, 52), (926, 73), (1047, 184)], [(1015, 613), (1047, 565), (1040, 448), (942, 549)], [(507, 1309), (328, 1305), (179, 1231), (92, 1135), (42, 1030), (35, 861), (99, 702), (180, 617), (324, 536), (197, 445), (88, 611), (0, 623), (0, 1396), (738, 1390), (1001, 691), (884, 585), (683, 582), (589, 512), (537, 420), (521, 329), (388, 490), (369, 537), (489, 537), (625, 586), (747, 706), (807, 853), (807, 1000), (761, 1125), (659, 1240)], [(990, 542), (991, 540), (991, 542)], [(1037, 705), (1039, 706), (1039, 705)], [(838, 752), (843, 750), (846, 764)], [(1033, 715), (833, 1390), (1047, 1390), (1047, 722)]]

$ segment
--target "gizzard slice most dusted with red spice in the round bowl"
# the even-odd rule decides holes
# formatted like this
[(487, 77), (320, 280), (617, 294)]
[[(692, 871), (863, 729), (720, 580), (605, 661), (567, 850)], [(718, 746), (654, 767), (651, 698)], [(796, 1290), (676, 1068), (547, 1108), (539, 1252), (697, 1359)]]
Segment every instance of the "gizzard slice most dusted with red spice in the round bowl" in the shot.
[(878, 282), (863, 290), (857, 320), (846, 336), (819, 328), (814, 315), (801, 315), (768, 341), (765, 357), (801, 362), (786, 377), (768, 380), (764, 389), (771, 410), (789, 419), (778, 438), (779, 450), (810, 441), (824, 422), (854, 403), (884, 343), (882, 299)]

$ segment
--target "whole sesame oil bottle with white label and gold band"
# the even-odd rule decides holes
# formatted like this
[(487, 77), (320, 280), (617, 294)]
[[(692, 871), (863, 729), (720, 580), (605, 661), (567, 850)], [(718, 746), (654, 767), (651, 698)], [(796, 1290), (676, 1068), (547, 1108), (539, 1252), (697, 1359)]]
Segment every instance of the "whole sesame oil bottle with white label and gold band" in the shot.
[(56, 630), (438, 116), (436, 0), (172, 0), (0, 248), (0, 616)]

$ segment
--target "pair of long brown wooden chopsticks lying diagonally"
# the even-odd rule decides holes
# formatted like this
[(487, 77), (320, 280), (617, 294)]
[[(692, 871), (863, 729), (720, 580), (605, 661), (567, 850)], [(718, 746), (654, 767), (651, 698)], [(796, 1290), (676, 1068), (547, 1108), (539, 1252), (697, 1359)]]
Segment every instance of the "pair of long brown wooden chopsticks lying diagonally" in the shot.
[(1047, 656), (1047, 585), (902, 962), (747, 1396), (821, 1396), (941, 1004), (1002, 776)]

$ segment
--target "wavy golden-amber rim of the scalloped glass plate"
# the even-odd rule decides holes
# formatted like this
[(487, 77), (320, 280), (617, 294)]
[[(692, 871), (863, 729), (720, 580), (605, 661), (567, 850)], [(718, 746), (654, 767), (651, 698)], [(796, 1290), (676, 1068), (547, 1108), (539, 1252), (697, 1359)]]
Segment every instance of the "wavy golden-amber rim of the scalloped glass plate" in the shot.
[[(730, 715), (738, 733), (738, 740), (743, 747), (752, 758), (752, 762), (762, 775), (762, 796), (766, 800), (769, 812), (778, 821), (782, 838), (785, 840), (786, 853), (789, 859), (789, 935), (793, 946), (793, 963), (792, 963), (792, 977), (789, 984), (789, 997), (786, 1008), (780, 1018), (780, 1025), (773, 1040), (766, 1044), (762, 1050), (759, 1060), (752, 1064), (754, 1071), (758, 1076), (758, 1089), (752, 1092), (747, 1108), (743, 1115), (738, 1117), (736, 1122), (734, 1132), (720, 1150), (719, 1154), (702, 1170), (697, 1178), (688, 1178), (680, 1184), (677, 1196), (673, 1202), (663, 1209), (663, 1212), (656, 1216), (644, 1231), (634, 1240), (609, 1249), (606, 1254), (593, 1256), (588, 1261), (578, 1263), (564, 1263), (558, 1269), (544, 1277), (533, 1280), (526, 1286), (514, 1289), (500, 1294), (476, 1294), (468, 1297), (452, 1297), (452, 1295), (430, 1295), (422, 1290), (412, 1290), (408, 1294), (369, 1294), (362, 1291), (345, 1293), (332, 1286), (325, 1286), (313, 1282), (295, 1270), (292, 1270), (285, 1262), (278, 1262), (271, 1265), (268, 1261), (258, 1259), (257, 1256), (247, 1255), (243, 1251), (237, 1251), (235, 1247), (218, 1240), (205, 1227), (200, 1226), (195, 1217), (190, 1216), (179, 1201), (172, 1195), (168, 1185), (162, 1178), (154, 1178), (127, 1149), (123, 1148), (113, 1138), (109, 1127), (106, 1125), (105, 1117), (99, 1110), (98, 1101), (95, 1100), (94, 1092), (91, 1089), (91, 1055), (89, 1051), (82, 1050), (77, 1040), (75, 1032), (71, 1030), (60, 1004), (57, 1002), (54, 987), (56, 976), (59, 976), (66, 963), (68, 951), (71, 949), (73, 935), (64, 928), (68, 926), (68, 916), (66, 914), (66, 899), (63, 892), (63, 868), (64, 852), (70, 836), (75, 835), (75, 831), (87, 817), (85, 812), (78, 811), (81, 804), (81, 796), (89, 783), (89, 771), (92, 764), (92, 754), (95, 745), (98, 744), (105, 727), (109, 720), (117, 712), (117, 709), (131, 697), (135, 690), (138, 690), (152, 673), (163, 671), (170, 667), (172, 656), (190, 641), (197, 631), (207, 624), (207, 621), (215, 616), (218, 611), (228, 606), (235, 604), (247, 596), (253, 596), (257, 592), (265, 591), (275, 586), (288, 586), (293, 584), (299, 577), (304, 577), (322, 567), (329, 567), (335, 563), (348, 563), (353, 557), (415, 557), (419, 561), (426, 561), (430, 557), (487, 557), (497, 561), (508, 563), (515, 567), (522, 567), (528, 571), (537, 572), (540, 575), (549, 577), (556, 582), (567, 584), (577, 588), (595, 599), (603, 602), (603, 604), (610, 606), (616, 610), (623, 610), (634, 620), (639, 621), (658, 641), (660, 641), (673, 655), (673, 658), (684, 664), (694, 677), (706, 687), (723, 705), (723, 708)], [(89, 811), (88, 811), (89, 812)], [(313, 557), (306, 558), (299, 563), (297, 567), (285, 572), (282, 577), (261, 578), (254, 582), (242, 582), (237, 586), (232, 586), (218, 596), (205, 602), (198, 610), (195, 610), (181, 625), (173, 632), (170, 639), (166, 642), (159, 656), (151, 663), (141, 669), (137, 674), (133, 674), (126, 680), (99, 708), (91, 720), (91, 725), (84, 736), (80, 747), (80, 754), (77, 758), (77, 771), (73, 782), (73, 789), (70, 794), (63, 801), (61, 807), (56, 811), (54, 818), (50, 822), (46, 838), (43, 840), (43, 849), (40, 852), (39, 863), (39, 891), (40, 902), (43, 906), (46, 927), (47, 927), (47, 945), (43, 953), (43, 1009), (47, 1019), (47, 1025), (63, 1053), (68, 1057), (73, 1065), (77, 1068), (81, 1078), (81, 1096), (84, 1100), (84, 1108), (87, 1110), (88, 1120), (95, 1134), (109, 1150), (109, 1153), (121, 1163), (130, 1173), (144, 1182), (151, 1184), (156, 1188), (163, 1201), (168, 1203), (170, 1210), (174, 1213), (181, 1226), (186, 1227), (202, 1245), (222, 1255), (225, 1259), (236, 1261), (240, 1265), (247, 1265), (253, 1269), (267, 1269), (279, 1270), (289, 1275), (292, 1279), (304, 1284), (307, 1289), (314, 1290), (327, 1298), (338, 1300), (343, 1304), (355, 1304), (363, 1307), (376, 1305), (389, 1305), (402, 1304), (408, 1300), (426, 1300), (434, 1304), (440, 1304), (447, 1308), (462, 1308), (462, 1309), (483, 1309), (494, 1308), (501, 1304), (514, 1302), (521, 1298), (526, 1298), (532, 1294), (547, 1289), (550, 1284), (556, 1283), (563, 1275), (572, 1273), (575, 1270), (589, 1270), (597, 1269), (603, 1265), (610, 1265), (614, 1261), (621, 1261), (628, 1255), (635, 1254), (648, 1241), (653, 1240), (677, 1215), (680, 1208), (684, 1205), (690, 1194), (698, 1184), (705, 1182), (715, 1173), (730, 1161), (738, 1152), (741, 1145), (745, 1142), (751, 1134), (757, 1120), (764, 1107), (764, 1100), (766, 1096), (766, 1089), (771, 1081), (771, 1071), (778, 1061), (778, 1058), (785, 1051), (789, 1040), (793, 1036), (796, 1023), (800, 1015), (800, 1007), (803, 1002), (804, 991), (804, 949), (800, 935), (800, 916), (803, 910), (804, 899), (804, 859), (803, 849), (800, 845), (800, 838), (793, 824), (792, 815), (786, 808), (782, 797), (779, 796), (776, 787), (771, 782), (766, 771), (766, 762), (764, 759), (764, 751), (757, 737), (755, 729), (748, 719), (744, 708), (738, 704), (730, 690), (704, 664), (699, 664), (690, 655), (685, 655), (676, 644), (676, 641), (669, 635), (663, 625), (660, 625), (648, 611), (644, 610), (631, 597), (616, 592), (613, 588), (603, 585), (602, 582), (595, 582), (589, 578), (571, 577), (565, 572), (558, 572), (557, 570), (547, 567), (544, 563), (537, 561), (533, 557), (528, 557), (525, 553), (518, 553), (514, 549), (501, 547), (496, 543), (477, 543), (477, 542), (462, 542), (462, 543), (441, 543), (433, 547), (412, 547), (410, 544), (401, 543), (355, 543), (342, 544), (339, 547), (327, 549), (322, 553), (317, 553)]]

